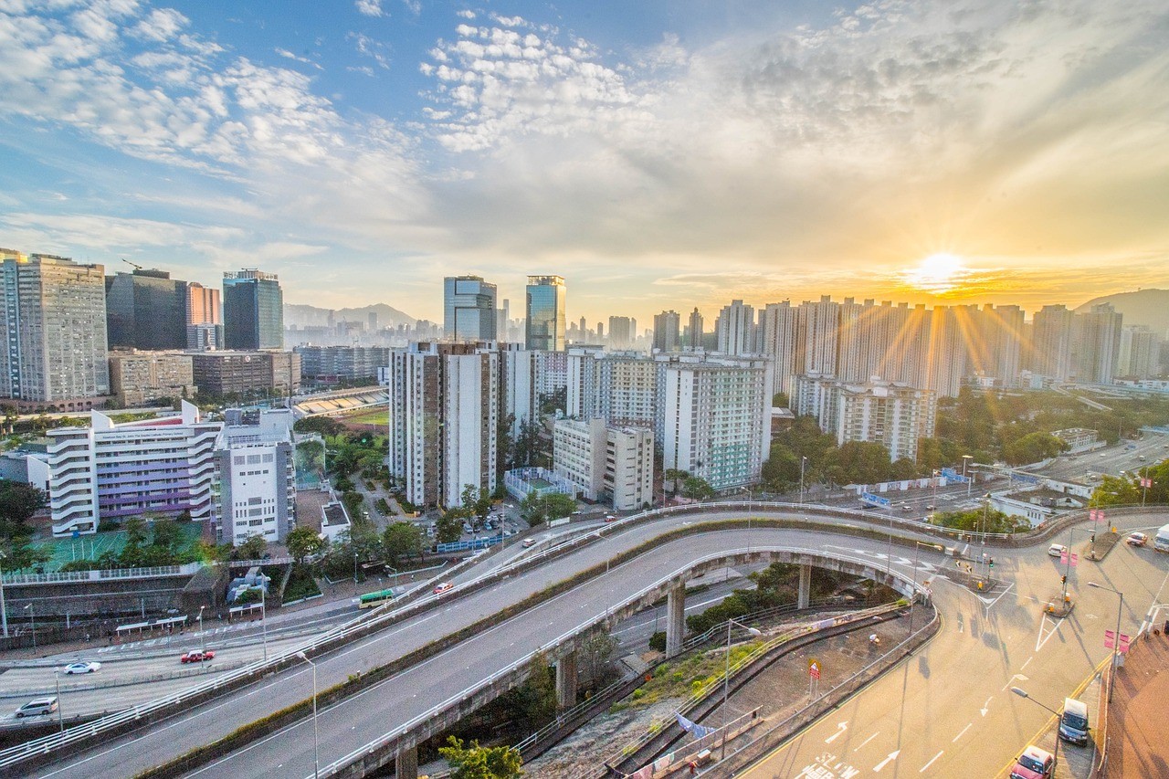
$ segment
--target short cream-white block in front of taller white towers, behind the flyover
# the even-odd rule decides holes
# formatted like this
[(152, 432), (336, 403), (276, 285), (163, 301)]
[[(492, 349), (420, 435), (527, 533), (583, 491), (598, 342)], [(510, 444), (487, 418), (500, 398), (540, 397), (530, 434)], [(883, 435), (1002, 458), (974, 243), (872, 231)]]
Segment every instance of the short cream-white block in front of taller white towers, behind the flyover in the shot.
[(587, 501), (608, 499), (620, 511), (653, 499), (653, 433), (645, 427), (607, 426), (603, 419), (558, 420), (553, 463)]

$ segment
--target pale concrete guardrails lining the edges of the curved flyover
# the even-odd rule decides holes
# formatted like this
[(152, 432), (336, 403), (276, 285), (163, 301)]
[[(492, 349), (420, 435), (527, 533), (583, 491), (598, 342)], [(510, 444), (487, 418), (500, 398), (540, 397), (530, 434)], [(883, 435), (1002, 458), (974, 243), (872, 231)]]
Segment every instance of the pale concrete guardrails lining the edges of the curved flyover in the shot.
[[(479, 590), (482, 587), (485, 587), (485, 586), (487, 586), (487, 585), (490, 585), (490, 584), (492, 584), (494, 581), (504, 579), (504, 578), (506, 578), (506, 577), (509, 577), (509, 575), (511, 575), (511, 574), (513, 574), (513, 573), (516, 573), (516, 572), (518, 572), (520, 570), (526, 570), (526, 568), (530, 568), (530, 567), (535, 567), (537, 565), (540, 565), (541, 563), (547, 561), (548, 559), (552, 559), (552, 558), (555, 558), (555, 557), (560, 557), (560, 556), (566, 554), (566, 553), (568, 553), (568, 552), (570, 552), (570, 551), (573, 551), (573, 550), (575, 550), (575, 549), (577, 549), (580, 546), (583, 546), (583, 545), (587, 545), (587, 544), (592, 544), (595, 540), (600, 539), (600, 538), (603, 538), (603, 537), (614, 535), (616, 532), (620, 532), (621, 530), (624, 530), (624, 529), (629, 528), (630, 525), (632, 525), (635, 523), (652, 521), (652, 519), (656, 519), (656, 518), (667, 517), (667, 516), (673, 516), (673, 515), (679, 515), (679, 513), (696, 513), (696, 515), (701, 515), (701, 513), (711, 513), (711, 512), (726, 511), (728, 509), (731, 509), (731, 510), (746, 509), (748, 511), (753, 511), (755, 509), (759, 509), (759, 510), (770, 510), (770, 511), (796, 511), (796, 512), (802, 512), (804, 515), (812, 515), (812, 516), (819, 516), (819, 517), (835, 517), (835, 518), (843, 518), (843, 519), (860, 519), (860, 521), (865, 521), (865, 522), (867, 522), (870, 524), (872, 524), (872, 523), (888, 524), (890, 528), (893, 528), (894, 525), (897, 525), (901, 530), (912, 530), (913, 532), (916, 532), (916, 533), (932, 535), (932, 536), (935, 536), (935, 537), (939, 537), (939, 538), (955, 538), (956, 539), (960, 536), (964, 537), (964, 536), (969, 536), (970, 535), (970, 533), (966, 533), (964, 531), (953, 531), (953, 530), (948, 530), (948, 529), (941, 529), (941, 528), (936, 528), (934, 525), (927, 525), (927, 524), (924, 524), (924, 523), (920, 523), (920, 522), (914, 522), (914, 521), (911, 521), (911, 519), (905, 519), (905, 518), (895, 517), (895, 516), (892, 516), (892, 515), (876, 513), (876, 512), (870, 512), (870, 511), (856, 511), (856, 510), (849, 510), (849, 509), (837, 509), (837, 508), (833, 508), (833, 506), (817, 506), (817, 505), (798, 504), (798, 503), (760, 502), (760, 501), (727, 501), (727, 502), (697, 503), (697, 504), (687, 504), (687, 505), (679, 505), (679, 506), (667, 506), (667, 508), (664, 508), (664, 509), (655, 509), (655, 510), (650, 510), (650, 511), (643, 511), (641, 513), (636, 513), (636, 515), (632, 515), (632, 516), (629, 516), (629, 517), (624, 517), (623, 519), (618, 519), (616, 522), (606, 524), (606, 525), (603, 525), (601, 528), (597, 528), (597, 529), (595, 529), (593, 531), (589, 531), (587, 533), (582, 533), (581, 536), (577, 536), (577, 537), (575, 537), (573, 539), (569, 539), (569, 540), (566, 540), (566, 542), (562, 542), (562, 543), (559, 543), (559, 544), (554, 544), (554, 545), (552, 545), (552, 546), (549, 546), (549, 547), (547, 547), (545, 550), (540, 550), (539, 552), (537, 552), (534, 554), (524, 556), (524, 557), (521, 557), (518, 560), (514, 560), (514, 561), (512, 561), (512, 563), (510, 563), (507, 565), (504, 565), (504, 566), (500, 566), (500, 567), (496, 568), (494, 571), (485, 574), (484, 577), (482, 577), (479, 579), (476, 579), (473, 581), (466, 582), (464, 585), (459, 585), (454, 591), (445, 593), (445, 595), (443, 597), (443, 599), (445, 601), (449, 601), (452, 598), (458, 597), (459, 594), (469, 594), (469, 593), (475, 592), (475, 591), (477, 591), (477, 590)], [(1164, 506), (1149, 508), (1149, 509), (1144, 509), (1144, 510), (1132, 510), (1132, 509), (1129, 509), (1129, 510), (1127, 510), (1127, 512), (1129, 512), (1129, 513), (1142, 513), (1142, 512), (1143, 513), (1151, 513), (1151, 512), (1156, 512), (1157, 510), (1164, 511)], [(1031, 531), (1030, 533), (1022, 535), (1019, 538), (1010, 538), (1010, 539), (1008, 539), (1008, 536), (1005, 533), (997, 533), (997, 535), (996, 533), (985, 533), (984, 537), (987, 538), (988, 542), (991, 542), (991, 540), (994, 540), (994, 542), (1009, 540), (1010, 543), (1007, 544), (1007, 545), (1011, 545), (1011, 546), (1032, 545), (1035, 543), (1038, 543), (1038, 542), (1043, 540), (1044, 538), (1050, 537), (1054, 532), (1058, 532), (1059, 529), (1061, 529), (1061, 528), (1064, 528), (1064, 526), (1066, 526), (1068, 524), (1073, 524), (1074, 522), (1084, 521), (1086, 518), (1087, 518), (1087, 512), (1086, 511), (1073, 512), (1071, 516), (1064, 517), (1064, 518), (1061, 518), (1061, 521), (1059, 521), (1057, 523), (1051, 523), (1051, 525), (1049, 525), (1045, 529), (1037, 530), (1037, 531)], [(842, 532), (849, 532), (850, 530), (859, 530), (855, 525), (839, 525), (838, 529)], [(877, 529), (877, 530), (883, 530), (883, 529)], [(869, 529), (869, 531), (871, 532), (872, 529)], [(983, 538), (983, 535), (978, 535), (978, 537)], [(1021, 540), (1022, 537), (1025, 537), (1025, 538), (1023, 540)], [(747, 552), (749, 550), (741, 550), (741, 551)], [(759, 550), (755, 550), (755, 551), (759, 551)], [(811, 552), (811, 553), (818, 553), (819, 552), (819, 550), (796, 550), (796, 549), (793, 549), (790, 551), (794, 551), (794, 552), (795, 551), (803, 551), (803, 552)], [(726, 553), (722, 553), (722, 554), (719, 554), (719, 556), (714, 556), (714, 557), (725, 557), (725, 554)], [(839, 557), (839, 556), (837, 556), (837, 557)], [(713, 558), (706, 558), (706, 559), (713, 559)], [(463, 566), (470, 567), (470, 566), (475, 565), (477, 561), (479, 561), (479, 558), (470, 558), (468, 560), (464, 560), (463, 563), (459, 563), (454, 568), (451, 568), (447, 573), (447, 577), (454, 575), (455, 573), (461, 572), (459, 568), (462, 568)], [(870, 564), (871, 563), (871, 560), (860, 560), (860, 559), (856, 559), (853, 561), (863, 563), (863, 564)], [(198, 565), (198, 564), (191, 564), (191, 565)], [(692, 567), (692, 566), (687, 566), (687, 567)], [(685, 571), (685, 570), (686, 568), (683, 568), (683, 571)], [(675, 575), (675, 574), (671, 574), (671, 575)], [(655, 584), (653, 586), (655, 587), (659, 586), (659, 584)], [(652, 590), (652, 587), (648, 588), (645, 592), (649, 592), (649, 590)], [(920, 587), (919, 587), (919, 590), (920, 590)], [(637, 597), (639, 598), (642, 595), (639, 594)], [(625, 602), (627, 604), (632, 602), (635, 599), (629, 599)], [(340, 644), (343, 644), (343, 643), (345, 643), (347, 641), (355, 640), (358, 637), (362, 637), (364, 635), (368, 635), (368, 634), (371, 634), (371, 633), (373, 633), (373, 632), (375, 632), (375, 630), (378, 630), (378, 629), (380, 629), (382, 627), (388, 627), (388, 625), (396, 623), (396, 622), (399, 622), (399, 621), (401, 621), (403, 619), (408, 619), (410, 616), (414, 616), (416, 613), (428, 609), (435, 602), (437, 602), (437, 599), (435, 597), (431, 597), (429, 593), (427, 593), (424, 597), (420, 598), (416, 602), (411, 602), (411, 604), (408, 604), (408, 605), (401, 605), (400, 602), (395, 602), (394, 604), (395, 608), (392, 612), (381, 612), (381, 609), (375, 609), (374, 612), (372, 612), (369, 614), (359, 615), (355, 619), (350, 620), (348, 622), (339, 625), (339, 626), (337, 626), (334, 628), (331, 628), (331, 629), (326, 630), (325, 633), (321, 633), (318, 636), (316, 636), (316, 637), (313, 637), (313, 639), (311, 639), (311, 640), (309, 640), (309, 641), (306, 641), (306, 642), (304, 642), (304, 643), (302, 643), (299, 646), (291, 647), (291, 648), (289, 648), (289, 649), (286, 649), (284, 652), (281, 652), (279, 654), (276, 654), (275, 656), (270, 657), (268, 661), (262, 661), (262, 660), (261, 661), (255, 661), (253, 663), (248, 663), (247, 666), (243, 666), (242, 668), (240, 668), (240, 669), (237, 669), (235, 671), (231, 671), (229, 674), (226, 674), (226, 675), (219, 677), (217, 680), (210, 681), (208, 683), (193, 685), (193, 687), (187, 688), (185, 690), (180, 690), (180, 691), (178, 691), (178, 692), (175, 692), (173, 695), (168, 695), (168, 696), (165, 696), (165, 697), (161, 697), (161, 698), (157, 698), (154, 701), (151, 701), (151, 702), (147, 702), (147, 703), (144, 703), (144, 704), (131, 706), (131, 708), (125, 709), (125, 710), (123, 710), (120, 712), (116, 712), (113, 715), (109, 715), (109, 716), (102, 717), (101, 719), (92, 721), (92, 722), (87, 723), (84, 725), (78, 725), (78, 726), (75, 726), (75, 728), (69, 728), (64, 732), (61, 732), (61, 733), (53, 733), (50, 736), (44, 736), (44, 737), (41, 737), (41, 738), (37, 738), (37, 739), (33, 739), (33, 740), (27, 742), (25, 744), (19, 744), (16, 746), (12, 746), (12, 747), (7, 747), (5, 750), (0, 750), (0, 768), (6, 768), (6, 767), (13, 766), (13, 765), (18, 765), (21, 761), (27, 760), (27, 759), (29, 759), (33, 756), (42, 756), (42, 754), (49, 753), (51, 751), (60, 750), (62, 747), (67, 747), (67, 746), (71, 746), (71, 745), (78, 745), (82, 742), (84, 742), (87, 739), (92, 739), (94, 737), (96, 737), (98, 735), (112, 736), (112, 735), (117, 735), (117, 733), (124, 732), (125, 730), (131, 729), (131, 726), (133, 726), (133, 725), (145, 724), (150, 718), (153, 718), (153, 717), (162, 715), (170, 708), (175, 708), (175, 706), (179, 706), (179, 705), (189, 706), (189, 705), (194, 705), (196, 703), (201, 703), (205, 699), (209, 699), (209, 698), (215, 697), (216, 695), (220, 695), (222, 692), (229, 691), (229, 690), (235, 689), (237, 687), (242, 687), (243, 684), (249, 683), (254, 677), (257, 677), (258, 675), (261, 675), (263, 673), (271, 673), (271, 671), (281, 670), (283, 667), (286, 667), (286, 666), (290, 666), (290, 664), (295, 663), (296, 662), (296, 655), (297, 655), (297, 653), (304, 652), (305, 654), (313, 655), (313, 656), (318, 655), (318, 654), (321, 654), (323, 652), (327, 652), (327, 650), (330, 650), (332, 648), (336, 648), (336, 646), (340, 646)], [(379, 612), (381, 612), (381, 613), (379, 613)], [(599, 619), (607, 619), (607, 616), (608, 616), (608, 614), (603, 614)], [(590, 629), (592, 627), (594, 627), (595, 623), (596, 623), (596, 620), (590, 621), (588, 623), (583, 623), (581, 626), (577, 626), (577, 628), (575, 630), (569, 632), (565, 636), (560, 636), (556, 641), (554, 641), (552, 643), (552, 646), (553, 647), (559, 646), (560, 642), (566, 639), (566, 636), (570, 637), (572, 635), (575, 635), (576, 633), (580, 633), (583, 629)], [(478, 685), (476, 685), (473, 688), (468, 688), (466, 690), (462, 691), (459, 695), (454, 696), (451, 698), (451, 701), (456, 701), (456, 699), (458, 699), (461, 697), (465, 697), (468, 695), (473, 694), (477, 690), (484, 689), (485, 687), (487, 687), (490, 684), (493, 684), (496, 681), (498, 681), (498, 678), (500, 678), (506, 673), (514, 673), (517, 668), (521, 668), (525, 663), (530, 662), (530, 659), (531, 659), (531, 655), (528, 655), (527, 657), (525, 657), (521, 661), (518, 661), (517, 663), (513, 663), (512, 666), (510, 666), (504, 671), (499, 671), (498, 674), (492, 675), (492, 677), (490, 680), (487, 680), (487, 681), (485, 681), (485, 682), (483, 682), (483, 683), (480, 683), (480, 684), (478, 684)], [(448, 703), (449, 702), (444, 702), (444, 704), (440, 704), (440, 706), (436, 706), (430, 712), (428, 712), (427, 716), (434, 716), (435, 711), (442, 710), (442, 706), (448, 705)], [(415, 718), (414, 721), (410, 721), (411, 722), (410, 726), (413, 728), (414, 725), (417, 724), (417, 722), (424, 721), (424, 718), (426, 717)], [(388, 740), (393, 740), (394, 738), (397, 738), (401, 732), (408, 732), (408, 731), (403, 731), (401, 728), (396, 729), (393, 733), (387, 735), (387, 737), (383, 737), (383, 739), (379, 739), (380, 744), (383, 745), (385, 743), (388, 743)], [(388, 740), (386, 740), (387, 738), (388, 738)], [(360, 752), (355, 752), (354, 754), (359, 754), (359, 753)], [(337, 761), (336, 765), (340, 765), (340, 761)]]

